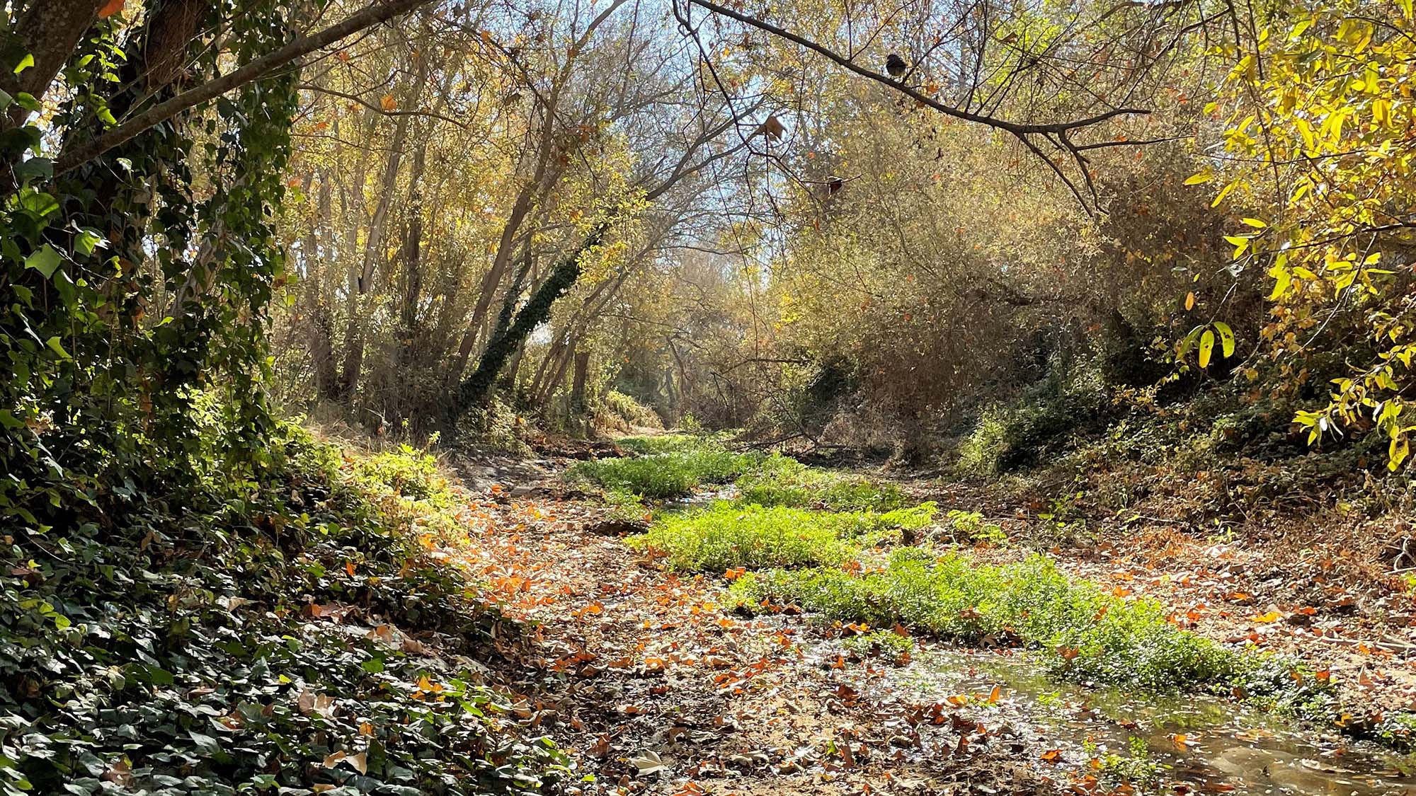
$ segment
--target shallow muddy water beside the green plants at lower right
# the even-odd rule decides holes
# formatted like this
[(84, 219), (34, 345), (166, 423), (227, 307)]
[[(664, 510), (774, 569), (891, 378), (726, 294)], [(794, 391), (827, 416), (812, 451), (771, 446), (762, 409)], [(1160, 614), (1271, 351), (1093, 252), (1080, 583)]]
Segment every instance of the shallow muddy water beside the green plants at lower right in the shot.
[[(913, 660), (862, 688), (919, 701), (956, 701), (1001, 687), (995, 711), (1024, 739), (1048, 749), (1039, 766), (1093, 771), (1092, 759), (1130, 756), (1133, 738), (1163, 763), (1164, 790), (1236, 795), (1368, 796), (1416, 793), (1416, 779), (1379, 749), (1315, 737), (1243, 705), (1202, 695), (1136, 697), (1046, 677), (1022, 653), (920, 647)], [(978, 700), (974, 700), (976, 703)], [(987, 700), (983, 700), (984, 703)], [(993, 724), (993, 722), (990, 722)], [(1177, 788), (1181, 786), (1181, 788)]]

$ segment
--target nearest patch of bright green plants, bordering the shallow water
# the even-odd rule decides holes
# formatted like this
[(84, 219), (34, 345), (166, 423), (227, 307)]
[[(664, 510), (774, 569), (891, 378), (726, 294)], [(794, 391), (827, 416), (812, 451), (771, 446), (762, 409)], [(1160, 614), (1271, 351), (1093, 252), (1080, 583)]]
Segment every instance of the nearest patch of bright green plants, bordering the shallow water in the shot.
[(748, 609), (794, 603), (942, 639), (1024, 644), (1056, 674), (1079, 681), (1174, 690), (1231, 683), (1246, 666), (1235, 650), (1175, 627), (1160, 603), (1072, 581), (1042, 555), (981, 567), (959, 554), (903, 547), (862, 575), (770, 569), (743, 575), (732, 593)]

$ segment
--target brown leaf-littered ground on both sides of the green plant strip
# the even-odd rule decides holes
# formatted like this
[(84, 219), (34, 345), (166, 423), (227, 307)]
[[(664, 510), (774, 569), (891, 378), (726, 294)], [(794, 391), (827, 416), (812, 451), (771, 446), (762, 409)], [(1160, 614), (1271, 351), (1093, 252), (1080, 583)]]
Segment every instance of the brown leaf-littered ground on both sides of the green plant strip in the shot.
[[(1114, 691), (1039, 688), (1031, 673), (1020, 680), (995, 670), (990, 656), (1014, 666), (1008, 650), (960, 656), (916, 639), (895, 656), (850, 644), (871, 630), (864, 626), (792, 608), (743, 616), (731, 609), (722, 575), (678, 575), (654, 551), (626, 545), (622, 516), (568, 486), (566, 465), (459, 466), (476, 496), (470, 544), (439, 555), (535, 627), (508, 674), (514, 712), (593, 776), (579, 785), (586, 793), (1131, 793), (1146, 788), (1130, 780), (1150, 776), (1175, 792), (1406, 785), (1392, 759), (1351, 748), (1335, 728), (1311, 728), (1311, 746), (1294, 748), (1274, 741), (1263, 717), (1245, 718), (1256, 729), (1216, 731), (1212, 742), (1204, 727), (1188, 738), (1170, 732), (1160, 744), (1168, 738), (1174, 749), (1160, 758), (1119, 755), (1136, 720), (1154, 718), (1154, 704), (1102, 710)], [(1344, 704), (1369, 708), (1342, 721), (1379, 722), (1416, 694), (1406, 654), (1416, 603), (1347, 565), (1337, 547), (1195, 537), (1154, 520), (1083, 530), (1079, 518), (1042, 518), (1049, 513), (1037, 501), (1000, 490), (899, 483), (912, 497), (997, 521), (1010, 541), (971, 548), (981, 564), (1048, 550), (1069, 575), (1163, 602), (1177, 626), (1294, 653)], [(912, 657), (942, 660), (950, 676), (916, 687), (909, 677), (923, 664)], [(1182, 728), (1187, 715), (1157, 727)]]

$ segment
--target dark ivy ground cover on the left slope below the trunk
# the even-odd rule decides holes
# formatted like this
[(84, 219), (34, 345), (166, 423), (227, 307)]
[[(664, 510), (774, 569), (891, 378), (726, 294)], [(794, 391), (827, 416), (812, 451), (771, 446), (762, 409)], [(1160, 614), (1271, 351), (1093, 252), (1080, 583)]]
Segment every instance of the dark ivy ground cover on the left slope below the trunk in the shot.
[(7, 531), (0, 793), (527, 793), (558, 779), (561, 754), (520, 737), (497, 693), (425, 654), (436, 640), (484, 659), (501, 622), (422, 555), (421, 535), (455, 525), (432, 460), (276, 433), (259, 477), (232, 476), (212, 448), (167, 494)]

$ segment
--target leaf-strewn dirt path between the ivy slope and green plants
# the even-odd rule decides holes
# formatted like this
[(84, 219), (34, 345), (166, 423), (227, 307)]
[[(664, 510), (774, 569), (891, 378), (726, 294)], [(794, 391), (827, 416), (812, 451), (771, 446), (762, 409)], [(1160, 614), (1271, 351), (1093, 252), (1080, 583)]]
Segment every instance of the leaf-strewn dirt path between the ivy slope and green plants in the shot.
[(472, 544), (443, 552), (537, 623), (515, 711), (593, 776), (572, 792), (1054, 789), (995, 718), (862, 695), (886, 664), (833, 646), (852, 630), (732, 615), (724, 578), (677, 576), (602, 535), (603, 511), (568, 496), (555, 469), (535, 486), (489, 484), (469, 506)]

